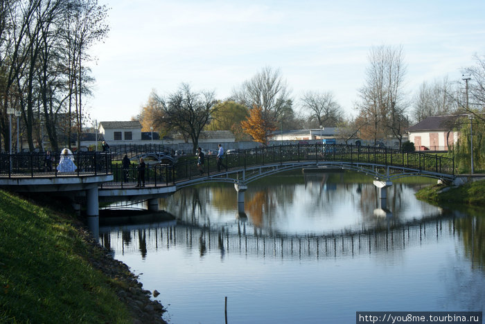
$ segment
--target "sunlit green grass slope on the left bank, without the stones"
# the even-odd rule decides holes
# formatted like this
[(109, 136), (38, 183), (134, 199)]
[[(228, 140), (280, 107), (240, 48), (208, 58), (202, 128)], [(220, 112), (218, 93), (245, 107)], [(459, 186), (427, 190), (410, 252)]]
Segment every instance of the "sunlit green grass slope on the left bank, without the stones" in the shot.
[(0, 323), (131, 323), (75, 222), (0, 190)]

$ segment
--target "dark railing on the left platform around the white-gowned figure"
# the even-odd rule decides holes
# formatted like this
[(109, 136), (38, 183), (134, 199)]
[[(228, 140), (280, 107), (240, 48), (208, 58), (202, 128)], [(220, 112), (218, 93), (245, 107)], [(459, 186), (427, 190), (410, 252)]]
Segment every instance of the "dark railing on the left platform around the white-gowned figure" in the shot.
[(111, 172), (111, 155), (100, 152), (76, 152), (72, 155), (75, 172), (59, 172), (60, 153), (46, 152), (0, 154), (0, 177), (60, 177)]

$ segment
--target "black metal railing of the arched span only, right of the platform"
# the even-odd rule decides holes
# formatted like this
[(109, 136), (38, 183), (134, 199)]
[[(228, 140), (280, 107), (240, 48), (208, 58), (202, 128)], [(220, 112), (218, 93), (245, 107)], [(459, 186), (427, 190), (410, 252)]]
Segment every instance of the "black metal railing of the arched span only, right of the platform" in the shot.
[[(436, 154), (422, 152), (404, 152), (387, 147), (355, 146), (321, 143), (307, 145), (280, 145), (258, 147), (251, 150), (236, 150), (226, 154), (218, 165), (215, 154), (206, 154), (201, 169), (197, 160), (186, 160), (175, 165), (147, 165), (145, 182), (168, 185), (202, 176), (211, 176), (218, 172), (247, 170), (254, 166), (275, 165), (283, 163), (325, 163), (342, 162), (350, 165), (368, 164), (382, 167), (407, 168), (418, 172), (454, 175), (454, 160)], [(123, 171), (120, 165), (114, 165), (114, 183), (130, 183), (136, 179), (134, 165)], [(202, 173), (201, 173), (202, 171)], [(124, 173), (123, 173), (124, 172)]]

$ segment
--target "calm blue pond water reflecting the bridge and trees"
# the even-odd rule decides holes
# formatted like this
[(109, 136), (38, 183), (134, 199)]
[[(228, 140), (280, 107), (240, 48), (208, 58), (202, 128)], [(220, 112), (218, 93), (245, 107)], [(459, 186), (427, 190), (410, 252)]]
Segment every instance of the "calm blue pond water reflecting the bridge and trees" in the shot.
[[(102, 227), (103, 244), (157, 289), (171, 323), (355, 323), (356, 311), (483, 311), (485, 226), (394, 183), (386, 208), (359, 174), (186, 188), (154, 226)], [(482, 245), (480, 245), (482, 244)]]

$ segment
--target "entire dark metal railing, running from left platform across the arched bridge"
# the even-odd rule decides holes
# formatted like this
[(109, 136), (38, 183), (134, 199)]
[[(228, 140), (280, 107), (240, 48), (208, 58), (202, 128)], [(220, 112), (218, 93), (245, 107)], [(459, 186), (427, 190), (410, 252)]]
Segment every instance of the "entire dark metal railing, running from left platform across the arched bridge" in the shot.
[[(51, 168), (46, 162), (45, 153), (0, 154), (0, 177), (41, 177), (62, 176), (55, 168), (60, 161), (59, 152), (52, 154)], [(76, 152), (73, 154), (78, 169), (71, 174), (112, 173), (113, 183), (106, 186), (121, 186), (136, 183), (137, 165), (130, 168), (112, 164), (112, 154), (105, 152)], [(250, 150), (237, 150), (225, 154), (218, 164), (215, 154), (206, 154), (202, 174), (197, 168), (197, 159), (188, 159), (175, 165), (148, 163), (145, 168), (145, 184), (168, 186), (177, 181), (191, 180), (202, 176), (211, 176), (230, 170), (246, 170), (249, 167), (298, 163), (312, 161), (342, 162), (352, 165), (368, 163), (392, 168), (407, 168), (421, 172), (455, 175), (455, 162), (444, 156), (423, 152), (404, 152), (387, 147), (355, 146), (344, 144), (325, 145), (321, 143), (306, 145), (280, 145), (256, 147)]]

